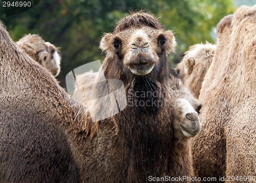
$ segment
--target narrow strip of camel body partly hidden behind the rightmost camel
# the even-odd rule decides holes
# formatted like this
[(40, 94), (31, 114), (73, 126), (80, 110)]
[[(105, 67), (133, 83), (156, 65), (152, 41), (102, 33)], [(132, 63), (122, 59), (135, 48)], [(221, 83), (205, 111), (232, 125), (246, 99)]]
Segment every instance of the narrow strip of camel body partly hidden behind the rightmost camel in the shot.
[[(220, 93), (214, 88), (223, 87), (220, 85), (219, 79), (220, 73), (227, 63), (232, 17), (233, 15), (224, 17), (217, 25), (215, 58), (205, 75), (199, 96), (199, 100), (203, 103), (200, 114), (200, 119), (203, 121), (202, 131), (194, 139), (192, 146), (195, 176), (199, 177), (218, 178), (225, 175), (226, 142), (221, 126), (224, 123), (223, 118), (228, 117), (228, 112), (222, 110), (228, 110), (228, 108), (225, 101), (222, 101), (222, 97), (218, 96)], [(220, 101), (222, 102), (219, 103)], [(217, 125), (216, 121), (219, 121), (220, 124)]]

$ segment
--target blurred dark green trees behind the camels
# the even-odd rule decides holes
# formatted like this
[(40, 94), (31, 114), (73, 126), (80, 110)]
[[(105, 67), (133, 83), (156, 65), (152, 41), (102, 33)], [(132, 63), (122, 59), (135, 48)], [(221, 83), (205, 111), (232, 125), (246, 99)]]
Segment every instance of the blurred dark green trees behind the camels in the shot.
[[(105, 32), (112, 32), (120, 18), (129, 10), (145, 10), (159, 17), (166, 29), (175, 32), (176, 53), (170, 56), (175, 67), (188, 46), (215, 43), (215, 28), (226, 15), (236, 10), (241, 1), (232, 0), (41, 0), (35, 7), (6, 16), (0, 3), (1, 21), (12, 39), (25, 34), (39, 34), (61, 51), (61, 72), (57, 76), (62, 87), (72, 69), (88, 62), (103, 61), (98, 48)], [(247, 0), (247, 3), (256, 2)]]

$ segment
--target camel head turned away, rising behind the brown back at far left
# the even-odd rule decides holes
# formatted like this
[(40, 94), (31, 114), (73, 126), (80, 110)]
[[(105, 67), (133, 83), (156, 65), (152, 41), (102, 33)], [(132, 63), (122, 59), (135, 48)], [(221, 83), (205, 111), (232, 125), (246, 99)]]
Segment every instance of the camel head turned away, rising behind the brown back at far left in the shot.
[(59, 74), (60, 56), (53, 44), (45, 42), (37, 34), (26, 35), (17, 44), (33, 60), (50, 70), (55, 77)]

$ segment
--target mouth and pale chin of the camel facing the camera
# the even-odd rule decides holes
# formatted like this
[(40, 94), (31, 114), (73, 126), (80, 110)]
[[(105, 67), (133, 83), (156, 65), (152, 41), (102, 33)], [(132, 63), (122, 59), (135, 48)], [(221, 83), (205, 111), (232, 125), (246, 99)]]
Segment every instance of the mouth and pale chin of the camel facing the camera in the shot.
[(128, 68), (132, 71), (132, 73), (136, 75), (146, 75), (150, 73), (155, 66), (154, 62), (143, 63), (140, 64), (131, 64)]

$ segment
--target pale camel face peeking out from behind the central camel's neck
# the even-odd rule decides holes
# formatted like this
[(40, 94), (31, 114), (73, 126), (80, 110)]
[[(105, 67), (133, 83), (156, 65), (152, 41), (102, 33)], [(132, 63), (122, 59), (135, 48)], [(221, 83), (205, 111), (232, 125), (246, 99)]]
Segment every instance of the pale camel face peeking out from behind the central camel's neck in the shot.
[(194, 137), (201, 131), (198, 113), (201, 104), (193, 98), (179, 98), (174, 104), (174, 136), (177, 139)]

